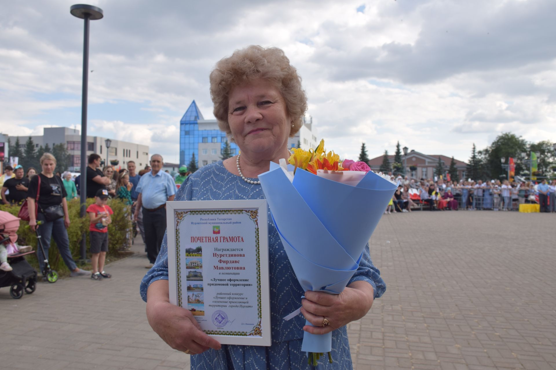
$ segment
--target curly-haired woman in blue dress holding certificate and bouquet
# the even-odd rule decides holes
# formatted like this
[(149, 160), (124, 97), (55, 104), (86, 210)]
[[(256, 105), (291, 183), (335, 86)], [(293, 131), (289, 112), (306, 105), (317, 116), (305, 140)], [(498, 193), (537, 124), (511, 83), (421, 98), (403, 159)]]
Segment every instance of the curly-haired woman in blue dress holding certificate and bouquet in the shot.
[[(216, 119), (241, 153), (197, 170), (182, 184), (176, 200), (264, 199), (257, 176), (269, 170), (271, 161), (290, 156), (288, 138), (302, 125), (307, 103), (301, 78), (282, 50), (249, 46), (220, 60), (210, 83)], [(321, 360), (319, 368), (351, 369), (346, 324), (365, 316), (374, 298), (386, 289), (368, 247), (340, 295), (302, 290), (272, 222), (269, 261), (271, 347), (221, 345), (199, 330), (190, 311), (170, 304), (166, 236), (155, 265), (141, 283), (151, 327), (172, 348), (195, 355), (192, 369), (309, 369), (306, 354), (301, 352), (304, 331), (324, 334), (333, 330), (334, 363)], [(301, 316), (282, 320), (296, 310), (302, 295), (301, 312), (315, 327), (306, 326)], [(330, 326), (322, 327), (324, 317)]]

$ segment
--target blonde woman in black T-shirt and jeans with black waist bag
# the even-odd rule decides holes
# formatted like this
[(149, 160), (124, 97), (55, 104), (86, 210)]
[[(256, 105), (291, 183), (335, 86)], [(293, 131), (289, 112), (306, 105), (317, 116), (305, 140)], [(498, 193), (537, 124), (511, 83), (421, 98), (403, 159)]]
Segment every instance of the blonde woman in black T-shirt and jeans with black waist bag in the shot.
[[(29, 191), (27, 192), (30, 195), (27, 197), (29, 226), (33, 231), (38, 227), (44, 254), (46, 254), (46, 256), (43, 256), (41, 249), (37, 250), (41, 271), (43, 271), (45, 257), (48, 259), (48, 249), (53, 237), (62, 259), (71, 271), (71, 276), (90, 275), (91, 272), (77, 267), (69, 251), (69, 238), (66, 230), (69, 226), (67, 194), (62, 180), (58, 176), (54, 176), (56, 158), (50, 153), (44, 153), (41, 157), (41, 166), (42, 172), (33, 176), (29, 182)], [(35, 201), (36, 198), (33, 195), (37, 195), (37, 201)], [(43, 221), (43, 224), (37, 226), (37, 221)]]

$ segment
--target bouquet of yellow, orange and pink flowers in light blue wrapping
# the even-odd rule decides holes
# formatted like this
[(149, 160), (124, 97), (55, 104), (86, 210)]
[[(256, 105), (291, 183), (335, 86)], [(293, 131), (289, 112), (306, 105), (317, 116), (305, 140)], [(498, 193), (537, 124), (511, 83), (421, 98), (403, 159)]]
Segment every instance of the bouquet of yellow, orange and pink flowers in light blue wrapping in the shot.
[[(364, 162), (340, 163), (339, 155), (326, 153), (324, 140), (315, 150), (292, 149), (288, 161), (271, 163), (259, 175), (272, 220), (301, 287), (339, 294), (358, 269), (397, 185)], [(301, 349), (309, 363), (316, 365), (325, 352), (331, 362), (332, 333), (305, 332)]]

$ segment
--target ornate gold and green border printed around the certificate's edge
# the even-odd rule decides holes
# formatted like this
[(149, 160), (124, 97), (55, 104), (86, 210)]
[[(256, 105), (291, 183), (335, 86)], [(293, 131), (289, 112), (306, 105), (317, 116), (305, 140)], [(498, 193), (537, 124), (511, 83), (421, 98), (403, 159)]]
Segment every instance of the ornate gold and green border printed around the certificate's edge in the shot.
[[(259, 243), (259, 209), (255, 210), (193, 210), (193, 211), (175, 211), (176, 216), (176, 265), (177, 265), (177, 302), (178, 306), (182, 305), (181, 296), (181, 260), (180, 260), (180, 223), (187, 215), (240, 215), (246, 214), (249, 216), (251, 221), (255, 224), (255, 260), (257, 265), (257, 317), (259, 319), (256, 326), (252, 328), (250, 332), (244, 331), (215, 331), (215, 330), (203, 330), (209, 335), (229, 335), (229, 336), (261, 336), (262, 337), (262, 307), (261, 307), (261, 259), (260, 259), (260, 243)], [(205, 276), (203, 275), (203, 281)], [(187, 278), (186, 278), (187, 280)]]

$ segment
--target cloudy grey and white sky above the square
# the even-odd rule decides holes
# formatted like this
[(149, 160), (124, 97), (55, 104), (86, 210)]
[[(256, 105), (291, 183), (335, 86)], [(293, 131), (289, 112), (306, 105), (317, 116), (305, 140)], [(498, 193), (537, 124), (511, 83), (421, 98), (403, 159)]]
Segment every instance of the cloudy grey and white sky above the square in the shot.
[[(83, 21), (75, 1), (5, 2), (0, 131), (81, 125)], [(90, 3), (89, 134), (178, 160), (193, 99), (212, 116), (209, 73), (249, 44), (285, 50), (318, 136), (344, 158), (396, 141), (466, 161), (511, 131), (556, 141), (556, 1), (132, 1)]]

